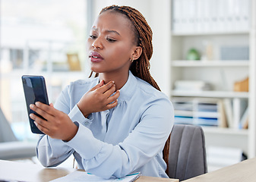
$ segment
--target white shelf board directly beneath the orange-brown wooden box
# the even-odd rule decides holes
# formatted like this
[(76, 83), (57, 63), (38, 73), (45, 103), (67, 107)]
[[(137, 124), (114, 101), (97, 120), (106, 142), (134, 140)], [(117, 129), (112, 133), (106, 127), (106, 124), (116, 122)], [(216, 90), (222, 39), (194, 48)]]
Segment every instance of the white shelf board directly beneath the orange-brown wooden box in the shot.
[(183, 91), (172, 90), (172, 96), (188, 97), (209, 97), (209, 98), (245, 98), (248, 99), (249, 93), (228, 92), (228, 91)]

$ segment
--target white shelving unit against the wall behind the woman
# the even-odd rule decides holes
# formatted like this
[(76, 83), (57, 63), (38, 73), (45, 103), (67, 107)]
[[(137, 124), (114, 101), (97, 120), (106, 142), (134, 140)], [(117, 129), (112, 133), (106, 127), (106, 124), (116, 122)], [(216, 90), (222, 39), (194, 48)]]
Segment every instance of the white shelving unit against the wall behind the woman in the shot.
[[(179, 15), (175, 14), (178, 13), (175, 10), (177, 6), (174, 5), (177, 2), (179, 1), (172, 0), (170, 8), (173, 11), (172, 20)], [(182, 2), (188, 3), (188, 1), (180, 1), (179, 3)], [(193, 5), (193, 2), (189, 2), (189, 5)], [(213, 0), (212, 2), (216, 1)], [(239, 27), (234, 30), (225, 30), (225, 27), (223, 30), (214, 30), (212, 27), (208, 31), (200, 31), (200, 29), (179, 31), (175, 29), (175, 23), (172, 21), (171, 77), (169, 81), (171, 82), (171, 99), (172, 97), (190, 97), (246, 100), (249, 108), (248, 130), (229, 127), (204, 127), (204, 133), (207, 146), (240, 148), (248, 155), (248, 158), (252, 158), (256, 156), (256, 2), (254, 0), (248, 2), (250, 24), (246, 30), (239, 30)], [(222, 3), (222, 1), (217, 1), (217, 3)], [(181, 4), (179, 4), (179, 8), (180, 6)], [(224, 4), (223, 6), (225, 9)], [(189, 12), (186, 13), (189, 14)], [(196, 16), (199, 15), (196, 14)], [(191, 22), (196, 24), (198, 19)], [(239, 45), (248, 46), (248, 59), (223, 60), (221, 58), (220, 49), (223, 46)], [(191, 48), (197, 49), (201, 55), (206, 55), (208, 59), (186, 60), (187, 52)], [(249, 77), (249, 92), (234, 92), (233, 84), (236, 81), (245, 80), (246, 77)], [(202, 91), (176, 90), (175, 81), (177, 80), (202, 80), (210, 83), (213, 89)], [(239, 117), (239, 115), (236, 116)]]

